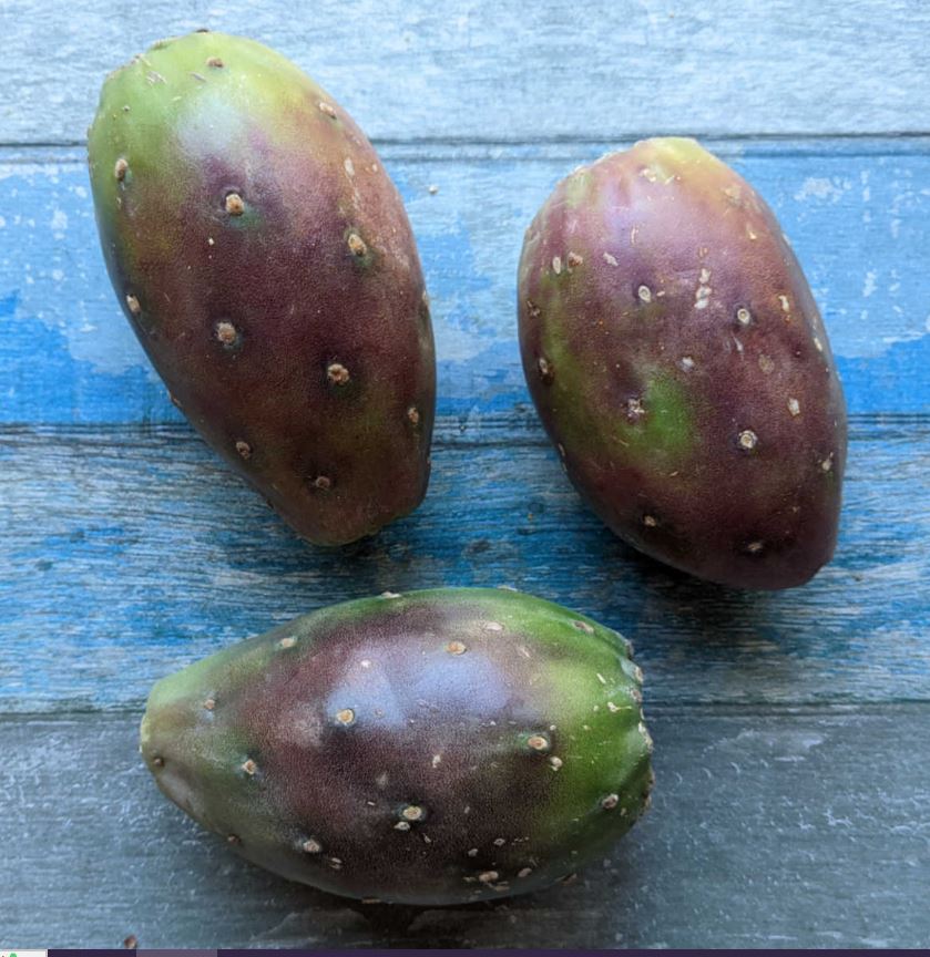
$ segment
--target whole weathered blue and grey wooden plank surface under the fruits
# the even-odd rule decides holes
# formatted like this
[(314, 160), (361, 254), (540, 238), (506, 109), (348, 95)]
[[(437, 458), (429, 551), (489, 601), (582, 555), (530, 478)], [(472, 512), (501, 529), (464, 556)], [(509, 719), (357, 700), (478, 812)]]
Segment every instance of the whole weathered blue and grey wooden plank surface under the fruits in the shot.
[[(344, 549), (295, 539), (194, 435), (99, 251), (83, 142), (103, 76), (202, 25), (323, 82), (419, 243), (435, 477), (416, 514)], [(930, 7), (6, 0), (0, 28), (0, 945), (930, 943)], [(529, 403), (523, 229), (573, 166), (661, 133), (760, 189), (838, 356), (842, 529), (804, 588), (637, 557)], [(512, 585), (635, 644), (655, 802), (578, 883), (362, 914), (159, 795), (136, 753), (156, 678), (324, 604), (443, 584)]]

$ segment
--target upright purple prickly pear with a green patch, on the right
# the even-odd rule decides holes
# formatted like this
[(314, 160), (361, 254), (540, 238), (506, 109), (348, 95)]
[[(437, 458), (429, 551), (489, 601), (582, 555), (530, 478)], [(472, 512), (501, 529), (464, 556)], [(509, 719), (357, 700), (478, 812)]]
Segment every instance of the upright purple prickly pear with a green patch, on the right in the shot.
[(693, 140), (563, 179), (523, 245), (520, 348), (569, 477), (640, 550), (787, 588), (836, 546), (846, 407), (771, 210)]

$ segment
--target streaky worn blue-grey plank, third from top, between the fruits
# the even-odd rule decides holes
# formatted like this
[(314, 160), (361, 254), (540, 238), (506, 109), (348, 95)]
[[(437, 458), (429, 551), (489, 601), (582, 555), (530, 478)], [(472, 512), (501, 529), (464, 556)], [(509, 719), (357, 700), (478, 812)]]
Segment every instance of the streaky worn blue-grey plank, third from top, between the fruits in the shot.
[(6, 430), (0, 464), (2, 710), (139, 703), (320, 605), (500, 584), (623, 631), (656, 702), (930, 700), (926, 419), (854, 423), (838, 555), (779, 594), (638, 557), (529, 415), (443, 421), (420, 510), (344, 549), (299, 542), (183, 426)]

